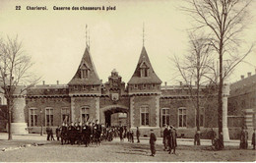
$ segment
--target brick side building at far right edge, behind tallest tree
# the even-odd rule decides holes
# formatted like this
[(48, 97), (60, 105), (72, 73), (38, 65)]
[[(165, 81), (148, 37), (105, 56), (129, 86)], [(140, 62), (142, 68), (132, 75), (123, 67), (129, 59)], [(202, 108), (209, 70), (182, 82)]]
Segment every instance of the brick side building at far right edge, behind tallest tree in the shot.
[(256, 70), (248, 73), (247, 78), (241, 76), (240, 81), (230, 84), (227, 101), (227, 126), (230, 138), (238, 138), (241, 127), (245, 127), (251, 139), (256, 129)]

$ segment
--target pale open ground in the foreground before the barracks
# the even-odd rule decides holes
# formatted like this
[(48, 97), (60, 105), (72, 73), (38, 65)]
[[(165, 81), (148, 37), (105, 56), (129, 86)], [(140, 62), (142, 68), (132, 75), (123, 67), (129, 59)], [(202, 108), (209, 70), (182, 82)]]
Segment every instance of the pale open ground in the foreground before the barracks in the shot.
[[(7, 141), (7, 140), (0, 140)], [(34, 140), (33, 140), (34, 141)], [(85, 161), (136, 161), (136, 162), (172, 162), (172, 161), (255, 161), (256, 150), (238, 149), (237, 146), (226, 146), (222, 151), (215, 151), (209, 145), (178, 144), (175, 154), (168, 154), (157, 143), (157, 155), (150, 156), (150, 146), (147, 139), (141, 143), (131, 143), (126, 139), (120, 142), (104, 141), (101, 146), (85, 147), (85, 145), (61, 145), (59, 141), (45, 141), (43, 145), (23, 147), (16, 150), (0, 151), (0, 162), (85, 162)]]

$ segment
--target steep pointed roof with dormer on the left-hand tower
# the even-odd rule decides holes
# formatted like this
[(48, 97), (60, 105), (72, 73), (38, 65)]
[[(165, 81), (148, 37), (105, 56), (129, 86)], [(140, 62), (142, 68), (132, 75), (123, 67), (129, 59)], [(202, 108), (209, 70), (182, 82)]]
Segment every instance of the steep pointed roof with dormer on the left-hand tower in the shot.
[[(87, 68), (90, 70), (89, 78), (81, 78), (81, 69)], [(98, 79), (98, 76), (96, 74), (96, 68), (94, 65), (94, 62), (92, 60), (92, 57), (90, 55), (89, 47), (87, 46), (84, 56), (81, 60), (81, 63), (78, 67), (77, 73), (73, 77), (71, 81), (69, 81), (68, 85), (77, 85), (77, 84), (86, 84), (86, 85), (92, 85), (92, 84), (100, 84), (100, 80)]]

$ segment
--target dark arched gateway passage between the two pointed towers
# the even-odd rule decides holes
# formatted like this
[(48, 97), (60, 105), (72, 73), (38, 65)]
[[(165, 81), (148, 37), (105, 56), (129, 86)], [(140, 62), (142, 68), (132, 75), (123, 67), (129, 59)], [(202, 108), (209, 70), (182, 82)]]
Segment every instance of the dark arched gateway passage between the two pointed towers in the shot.
[[(109, 105), (99, 109), (99, 117), (100, 117), (100, 124), (104, 124), (106, 127), (114, 126), (113, 122), (111, 122), (111, 115), (115, 113), (125, 113), (126, 117), (124, 117), (126, 121), (126, 126), (130, 127), (129, 122), (129, 108), (123, 105)], [(120, 118), (116, 116), (115, 118)], [(118, 120), (117, 120), (118, 121)], [(118, 122), (119, 123), (119, 122)], [(120, 124), (118, 124), (120, 125)]]

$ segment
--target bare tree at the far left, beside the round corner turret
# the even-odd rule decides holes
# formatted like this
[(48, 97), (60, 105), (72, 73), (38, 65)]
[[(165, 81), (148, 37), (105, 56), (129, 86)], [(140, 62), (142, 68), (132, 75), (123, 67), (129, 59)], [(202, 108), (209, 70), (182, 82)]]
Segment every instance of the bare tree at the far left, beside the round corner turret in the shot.
[[(0, 83), (1, 92), (7, 99), (8, 139), (12, 139), (11, 123), (14, 107), (14, 93), (23, 94), (40, 78), (35, 78), (30, 69), (32, 60), (22, 49), (22, 42), (16, 38), (0, 39)], [(17, 91), (18, 85), (26, 85)]]

